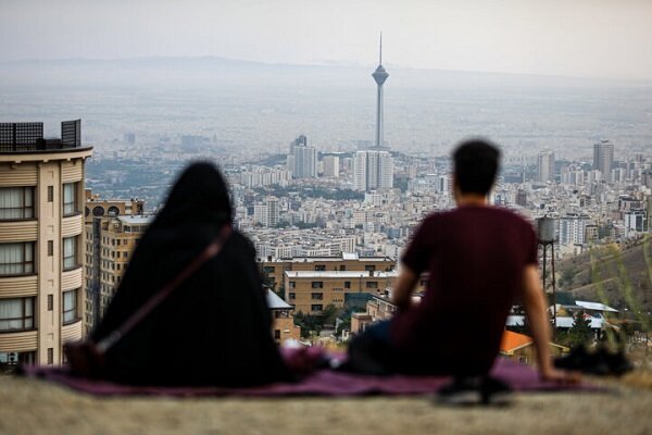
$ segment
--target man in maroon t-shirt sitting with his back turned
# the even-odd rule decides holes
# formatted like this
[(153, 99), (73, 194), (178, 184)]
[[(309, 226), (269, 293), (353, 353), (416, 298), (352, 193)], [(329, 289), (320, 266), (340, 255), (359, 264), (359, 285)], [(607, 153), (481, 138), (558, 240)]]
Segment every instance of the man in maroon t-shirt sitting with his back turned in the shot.
[[(507, 313), (521, 299), (541, 376), (572, 381), (574, 376), (555, 370), (550, 361), (550, 323), (535, 232), (515, 213), (487, 204), (498, 149), (482, 140), (467, 141), (453, 160), (457, 208), (430, 214), (414, 234), (392, 293), (399, 311), (351, 343), (351, 369), (374, 374), (487, 375)], [(429, 272), (426, 294), (413, 304), (422, 272)]]

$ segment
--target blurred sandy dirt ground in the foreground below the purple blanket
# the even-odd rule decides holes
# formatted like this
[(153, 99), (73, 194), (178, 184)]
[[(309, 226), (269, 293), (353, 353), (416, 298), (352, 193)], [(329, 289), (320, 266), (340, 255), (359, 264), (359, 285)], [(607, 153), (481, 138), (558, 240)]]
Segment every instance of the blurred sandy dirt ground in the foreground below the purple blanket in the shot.
[(0, 376), (0, 434), (582, 434), (652, 433), (652, 389), (517, 394), (504, 408), (432, 397), (98, 398)]

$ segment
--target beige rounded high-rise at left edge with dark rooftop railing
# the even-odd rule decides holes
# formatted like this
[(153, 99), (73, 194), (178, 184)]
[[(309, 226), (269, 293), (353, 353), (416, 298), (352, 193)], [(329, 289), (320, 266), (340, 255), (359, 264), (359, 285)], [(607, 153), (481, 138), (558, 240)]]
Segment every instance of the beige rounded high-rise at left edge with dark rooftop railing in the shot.
[(80, 121), (0, 124), (0, 364), (60, 364), (83, 334)]

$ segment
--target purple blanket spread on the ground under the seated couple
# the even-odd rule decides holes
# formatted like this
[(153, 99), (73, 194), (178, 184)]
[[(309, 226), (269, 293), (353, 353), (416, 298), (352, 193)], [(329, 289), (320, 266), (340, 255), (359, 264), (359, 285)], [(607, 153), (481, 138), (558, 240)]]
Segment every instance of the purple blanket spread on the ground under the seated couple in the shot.
[[(448, 377), (435, 376), (365, 376), (352, 373), (334, 372), (329, 370), (316, 371), (299, 383), (277, 383), (260, 387), (224, 388), (216, 386), (205, 387), (161, 387), (161, 386), (130, 386), (114, 384), (106, 381), (87, 380), (72, 376), (66, 369), (28, 366), (25, 373), (32, 377), (39, 377), (65, 385), (78, 391), (98, 396), (359, 396), (359, 395), (423, 395), (436, 391), (450, 381)], [(587, 384), (561, 385), (542, 382), (535, 370), (527, 365), (518, 364), (499, 358), (496, 361), (492, 374), (507, 382), (517, 391), (597, 391), (597, 388)]]

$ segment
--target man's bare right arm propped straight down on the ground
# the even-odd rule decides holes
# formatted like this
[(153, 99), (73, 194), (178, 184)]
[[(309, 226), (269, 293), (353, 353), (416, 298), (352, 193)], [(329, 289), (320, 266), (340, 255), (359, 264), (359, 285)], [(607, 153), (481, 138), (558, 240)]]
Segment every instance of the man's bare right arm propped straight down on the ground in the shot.
[(578, 375), (556, 370), (550, 361), (548, 303), (539, 283), (539, 270), (535, 264), (528, 264), (523, 272), (523, 303), (537, 349), (539, 373), (548, 381), (577, 382)]

